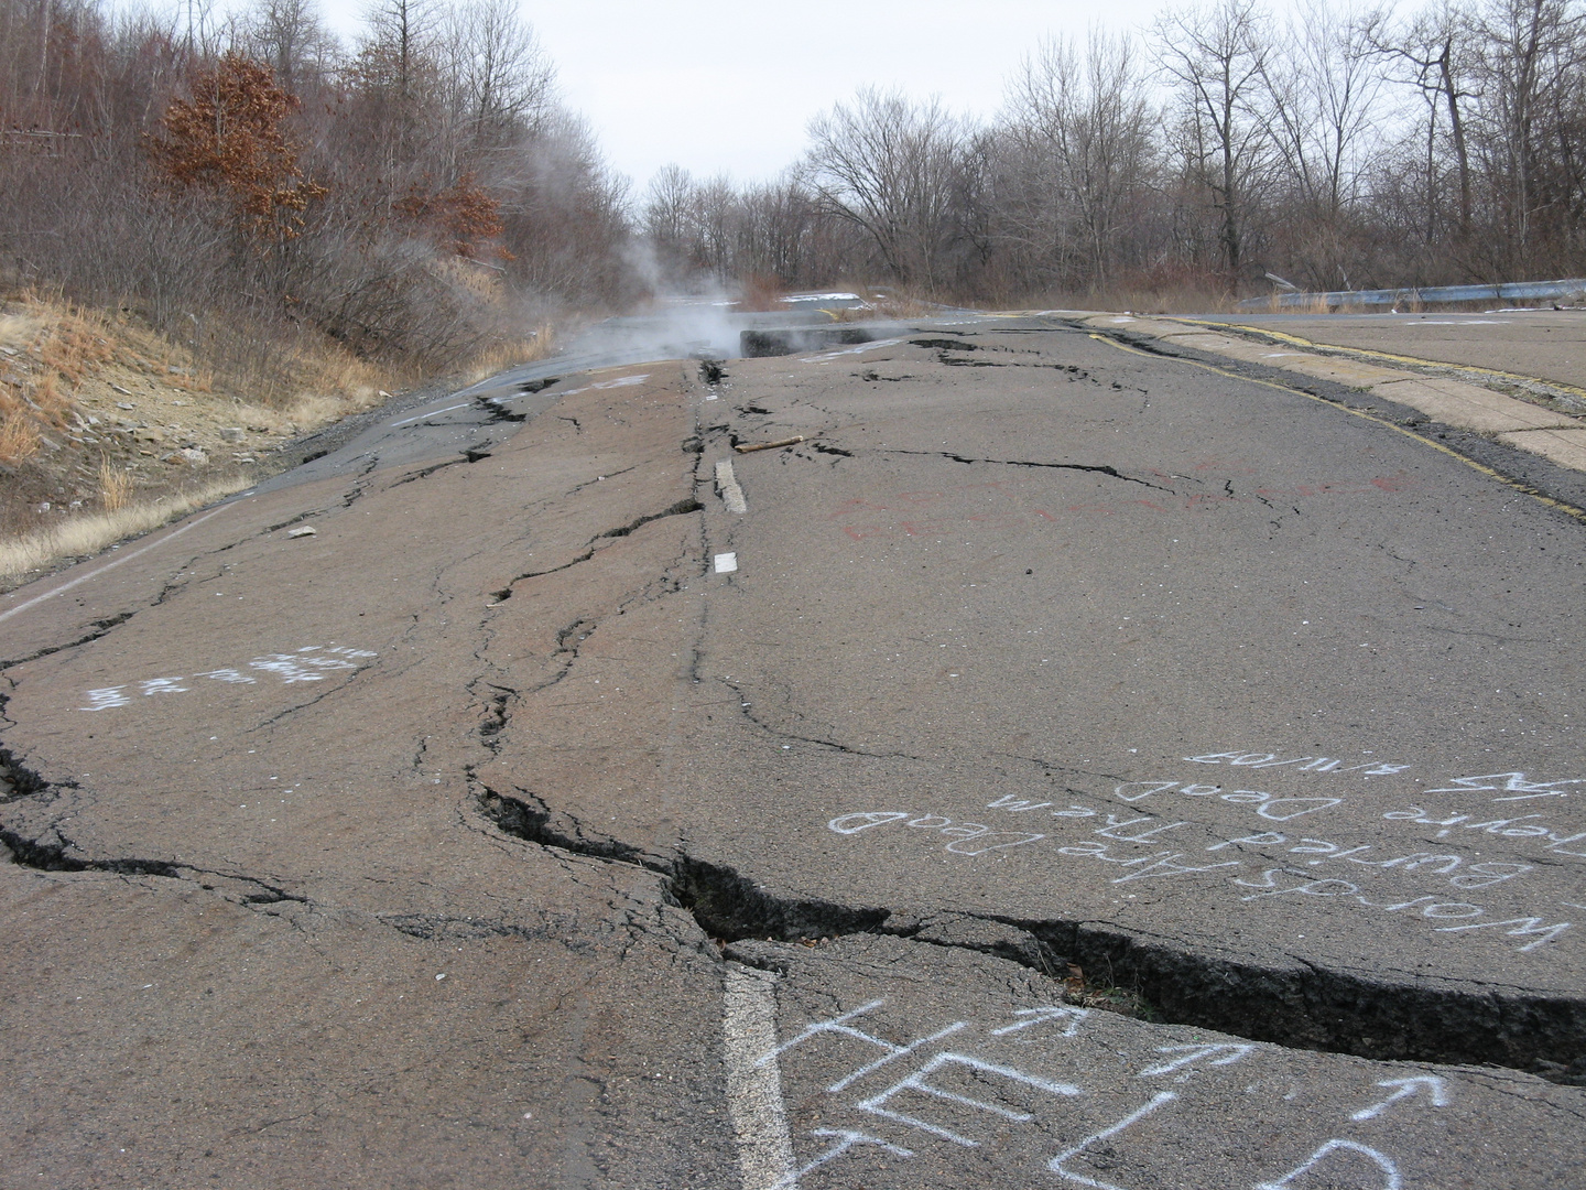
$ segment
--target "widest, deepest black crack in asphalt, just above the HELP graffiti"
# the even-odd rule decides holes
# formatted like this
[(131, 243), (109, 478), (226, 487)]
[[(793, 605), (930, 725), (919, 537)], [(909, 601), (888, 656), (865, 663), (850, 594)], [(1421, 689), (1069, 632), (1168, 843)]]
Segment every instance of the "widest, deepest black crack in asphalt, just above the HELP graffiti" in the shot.
[(1264, 965), (1078, 917), (950, 908), (921, 916), (839, 904), (776, 892), (682, 847), (661, 857), (585, 831), (576, 817), (525, 790), (501, 793), (476, 784), (476, 798), (479, 811), (508, 835), (657, 873), (666, 893), (720, 942), (871, 933), (991, 954), (1044, 974), (1074, 965), (1105, 971), (1110, 984), (1151, 1004), (1164, 1023), (1373, 1060), (1496, 1063), (1564, 1081), (1586, 1057), (1586, 1001), (1573, 996), (1394, 982), (1297, 958)]

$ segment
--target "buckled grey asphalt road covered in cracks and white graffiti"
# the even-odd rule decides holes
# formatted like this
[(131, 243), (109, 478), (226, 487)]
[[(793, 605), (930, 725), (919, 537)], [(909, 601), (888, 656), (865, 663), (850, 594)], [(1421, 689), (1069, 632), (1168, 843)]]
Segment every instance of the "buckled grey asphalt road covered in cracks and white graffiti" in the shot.
[(0, 603), (0, 1185), (1576, 1184), (1581, 524), (887, 333), (509, 374)]

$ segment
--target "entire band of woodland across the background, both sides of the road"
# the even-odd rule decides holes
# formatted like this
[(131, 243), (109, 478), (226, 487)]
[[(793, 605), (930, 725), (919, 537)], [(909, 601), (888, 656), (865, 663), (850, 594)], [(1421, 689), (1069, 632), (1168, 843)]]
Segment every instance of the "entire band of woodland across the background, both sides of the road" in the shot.
[(352, 44), (314, 0), (205, 11), (0, 0), (0, 282), (128, 305), (244, 373), (305, 333), (444, 365), (677, 284), (1586, 273), (1586, 0), (1174, 8), (1032, 43), (993, 117), (861, 89), (772, 182), (669, 167), (636, 200), (514, 0), (376, 0)]

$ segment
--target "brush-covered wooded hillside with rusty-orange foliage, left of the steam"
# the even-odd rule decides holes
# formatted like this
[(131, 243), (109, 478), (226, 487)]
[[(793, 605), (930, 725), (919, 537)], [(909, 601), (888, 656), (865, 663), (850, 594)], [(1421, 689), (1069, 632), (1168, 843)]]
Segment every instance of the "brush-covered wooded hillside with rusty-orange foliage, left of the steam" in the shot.
[(625, 184), (511, 0), (379, 0), (351, 46), (312, 0), (195, 11), (0, 0), (0, 281), (243, 374), (303, 333), (441, 367), (626, 297)]

